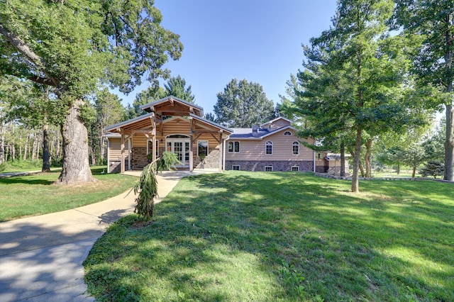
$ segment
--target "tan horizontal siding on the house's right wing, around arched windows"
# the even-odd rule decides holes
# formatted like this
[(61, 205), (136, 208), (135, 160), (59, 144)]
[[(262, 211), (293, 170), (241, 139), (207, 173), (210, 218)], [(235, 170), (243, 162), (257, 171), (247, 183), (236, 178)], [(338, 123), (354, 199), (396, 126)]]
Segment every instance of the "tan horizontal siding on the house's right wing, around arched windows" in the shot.
[[(294, 131), (291, 131), (294, 134)], [(236, 141), (231, 139), (228, 141)], [(240, 142), (240, 152), (228, 152), (228, 143), (226, 143), (226, 160), (314, 160), (314, 151), (304, 147), (301, 141), (314, 143), (313, 139), (297, 138), (294, 135), (284, 135), (284, 131), (279, 131), (273, 135), (262, 138), (262, 140), (238, 140)], [(272, 155), (265, 154), (265, 143), (272, 142)], [(292, 152), (292, 143), (299, 141), (299, 155)]]

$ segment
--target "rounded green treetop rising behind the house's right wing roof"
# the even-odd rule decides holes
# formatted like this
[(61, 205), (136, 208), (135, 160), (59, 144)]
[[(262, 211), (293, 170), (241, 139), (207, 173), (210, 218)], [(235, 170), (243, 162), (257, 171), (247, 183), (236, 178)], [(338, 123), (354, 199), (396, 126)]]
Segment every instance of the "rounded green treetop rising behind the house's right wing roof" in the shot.
[(216, 121), (222, 125), (246, 128), (270, 121), (275, 116), (273, 101), (267, 99), (258, 83), (232, 79), (217, 96), (214, 113)]

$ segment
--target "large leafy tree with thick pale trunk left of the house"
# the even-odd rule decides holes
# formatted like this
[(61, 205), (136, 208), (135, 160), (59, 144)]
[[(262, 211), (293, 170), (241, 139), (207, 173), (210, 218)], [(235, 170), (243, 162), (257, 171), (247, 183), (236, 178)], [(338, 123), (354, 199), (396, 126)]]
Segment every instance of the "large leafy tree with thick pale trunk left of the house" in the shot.
[(57, 183), (94, 181), (84, 96), (100, 82), (128, 93), (145, 73), (151, 82), (168, 76), (162, 65), (182, 44), (161, 20), (150, 0), (0, 2), (0, 73), (55, 87), (67, 109)]

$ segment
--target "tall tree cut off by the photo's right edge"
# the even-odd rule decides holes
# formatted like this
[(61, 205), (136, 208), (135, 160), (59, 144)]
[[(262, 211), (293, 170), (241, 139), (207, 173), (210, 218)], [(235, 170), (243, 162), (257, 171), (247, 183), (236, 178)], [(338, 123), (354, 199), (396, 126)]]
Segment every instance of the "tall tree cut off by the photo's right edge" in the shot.
[(402, 35), (416, 35), (422, 41), (414, 52), (413, 72), (423, 84), (445, 94), (446, 112), (444, 179), (454, 180), (454, 2), (450, 0), (397, 0), (394, 21)]

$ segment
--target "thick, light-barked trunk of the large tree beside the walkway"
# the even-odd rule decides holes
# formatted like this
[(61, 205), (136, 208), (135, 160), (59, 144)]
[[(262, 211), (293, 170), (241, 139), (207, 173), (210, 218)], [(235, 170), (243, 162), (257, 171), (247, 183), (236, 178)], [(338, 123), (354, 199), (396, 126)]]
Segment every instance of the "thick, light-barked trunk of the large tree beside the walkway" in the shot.
[(87, 127), (80, 120), (79, 108), (83, 104), (82, 99), (74, 101), (68, 110), (65, 124), (61, 127), (63, 165), (62, 174), (55, 184), (96, 181), (89, 166)]

